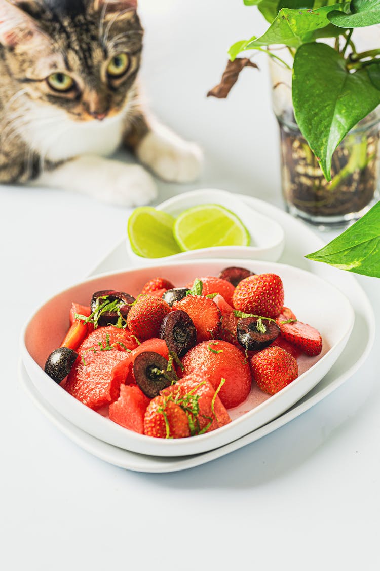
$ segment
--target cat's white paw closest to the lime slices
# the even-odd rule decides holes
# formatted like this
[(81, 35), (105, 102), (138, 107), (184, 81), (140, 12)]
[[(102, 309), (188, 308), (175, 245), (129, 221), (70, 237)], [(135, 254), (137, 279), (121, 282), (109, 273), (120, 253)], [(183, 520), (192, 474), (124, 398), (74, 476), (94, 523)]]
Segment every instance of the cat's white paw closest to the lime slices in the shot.
[(97, 184), (95, 198), (119, 206), (143, 206), (157, 197), (157, 186), (149, 172), (138, 164), (109, 161), (107, 183)]

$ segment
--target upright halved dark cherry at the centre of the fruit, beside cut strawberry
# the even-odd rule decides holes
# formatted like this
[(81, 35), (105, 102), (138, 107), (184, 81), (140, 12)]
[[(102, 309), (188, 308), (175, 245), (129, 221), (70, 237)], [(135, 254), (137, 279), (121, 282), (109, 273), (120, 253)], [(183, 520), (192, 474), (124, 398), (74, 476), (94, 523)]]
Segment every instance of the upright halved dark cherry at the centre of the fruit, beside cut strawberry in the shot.
[(182, 309), (171, 311), (164, 317), (159, 336), (166, 341), (170, 351), (175, 351), (179, 357), (185, 355), (197, 343), (197, 330), (193, 320)]

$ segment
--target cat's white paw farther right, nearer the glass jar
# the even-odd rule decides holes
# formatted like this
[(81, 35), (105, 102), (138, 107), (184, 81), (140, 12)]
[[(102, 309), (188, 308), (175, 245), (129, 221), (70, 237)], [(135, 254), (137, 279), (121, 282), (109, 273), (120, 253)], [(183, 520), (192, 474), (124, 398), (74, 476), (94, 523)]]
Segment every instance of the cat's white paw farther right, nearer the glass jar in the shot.
[(136, 155), (142, 164), (168, 182), (193, 182), (201, 174), (203, 155), (198, 145), (162, 126), (142, 139)]

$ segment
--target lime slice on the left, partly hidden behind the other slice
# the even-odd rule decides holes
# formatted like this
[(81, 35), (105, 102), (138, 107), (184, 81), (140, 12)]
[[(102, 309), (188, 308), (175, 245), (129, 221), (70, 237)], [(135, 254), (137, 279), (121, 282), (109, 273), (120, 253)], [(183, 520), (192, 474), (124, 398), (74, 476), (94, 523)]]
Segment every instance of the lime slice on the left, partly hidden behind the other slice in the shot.
[(174, 218), (151, 206), (136, 208), (128, 219), (128, 238), (142, 258), (164, 258), (181, 252), (173, 237)]

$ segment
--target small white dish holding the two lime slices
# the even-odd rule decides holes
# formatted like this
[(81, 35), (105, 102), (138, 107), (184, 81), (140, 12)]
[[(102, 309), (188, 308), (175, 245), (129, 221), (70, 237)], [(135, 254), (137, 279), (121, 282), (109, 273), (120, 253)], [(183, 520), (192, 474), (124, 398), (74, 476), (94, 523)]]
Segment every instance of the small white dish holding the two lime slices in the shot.
[(220, 204), (236, 214), (246, 226), (251, 235), (250, 246), (219, 246), (214, 248), (202, 248), (181, 252), (165, 258), (142, 258), (135, 254), (130, 246), (128, 236), (126, 238), (126, 251), (133, 266), (158, 266), (162, 263), (170, 263), (182, 260), (195, 260), (203, 258), (247, 258), (250, 260), (267, 260), (277, 262), (284, 248), (284, 231), (280, 224), (260, 214), (254, 208), (247, 206), (240, 198), (224, 190), (215, 188), (203, 188), (185, 192), (174, 198), (170, 198), (159, 204), (157, 210), (162, 210), (176, 218), (181, 212), (198, 206), (199, 204)]

